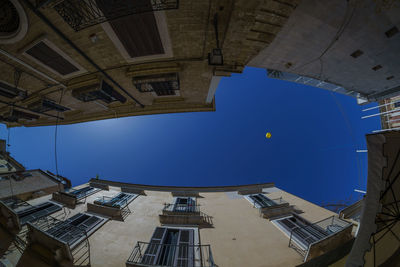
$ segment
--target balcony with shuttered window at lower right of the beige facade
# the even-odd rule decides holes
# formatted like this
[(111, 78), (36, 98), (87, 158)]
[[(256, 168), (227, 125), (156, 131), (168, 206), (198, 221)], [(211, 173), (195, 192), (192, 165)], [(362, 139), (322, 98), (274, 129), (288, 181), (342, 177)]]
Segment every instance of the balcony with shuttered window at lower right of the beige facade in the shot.
[(347, 221), (331, 216), (310, 225), (294, 227), (290, 232), (289, 247), (304, 256), (304, 261), (308, 261), (352, 239), (352, 226)]

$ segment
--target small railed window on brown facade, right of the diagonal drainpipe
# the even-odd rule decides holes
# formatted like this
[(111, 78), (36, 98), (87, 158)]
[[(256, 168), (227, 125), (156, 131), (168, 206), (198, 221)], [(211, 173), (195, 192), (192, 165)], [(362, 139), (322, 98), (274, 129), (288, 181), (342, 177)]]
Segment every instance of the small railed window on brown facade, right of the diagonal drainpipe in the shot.
[(133, 84), (142, 93), (153, 92), (155, 96), (179, 96), (178, 73), (135, 77)]

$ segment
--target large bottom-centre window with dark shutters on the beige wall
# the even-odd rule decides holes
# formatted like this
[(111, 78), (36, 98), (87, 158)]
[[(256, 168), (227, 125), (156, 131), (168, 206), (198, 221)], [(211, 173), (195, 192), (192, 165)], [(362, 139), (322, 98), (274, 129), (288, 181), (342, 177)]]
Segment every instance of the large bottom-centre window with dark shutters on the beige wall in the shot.
[(157, 227), (141, 263), (191, 267), (194, 265), (193, 245), (194, 229)]

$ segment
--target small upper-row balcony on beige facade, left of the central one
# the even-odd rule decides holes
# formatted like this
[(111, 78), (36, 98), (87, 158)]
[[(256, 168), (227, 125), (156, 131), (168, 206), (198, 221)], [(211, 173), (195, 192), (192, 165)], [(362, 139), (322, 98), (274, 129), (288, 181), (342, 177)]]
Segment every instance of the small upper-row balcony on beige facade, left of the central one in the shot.
[(110, 217), (113, 220), (124, 221), (131, 214), (128, 204), (133, 201), (135, 195), (129, 193), (119, 193), (114, 197), (102, 196), (97, 198), (93, 204), (88, 203), (89, 212)]

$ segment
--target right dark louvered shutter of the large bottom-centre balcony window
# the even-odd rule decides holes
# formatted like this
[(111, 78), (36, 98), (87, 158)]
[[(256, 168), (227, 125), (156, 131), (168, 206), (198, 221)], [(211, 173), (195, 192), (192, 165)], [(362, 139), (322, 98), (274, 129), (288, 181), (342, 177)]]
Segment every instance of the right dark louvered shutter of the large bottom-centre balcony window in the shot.
[(174, 266), (192, 267), (194, 265), (194, 230), (179, 230), (178, 253)]

